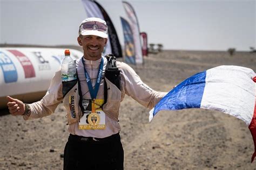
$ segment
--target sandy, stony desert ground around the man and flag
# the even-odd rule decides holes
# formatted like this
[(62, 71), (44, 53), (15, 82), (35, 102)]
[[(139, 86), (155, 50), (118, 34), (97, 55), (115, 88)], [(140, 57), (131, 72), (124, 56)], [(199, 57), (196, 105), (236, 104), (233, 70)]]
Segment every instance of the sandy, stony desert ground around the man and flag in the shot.
[[(219, 65), (256, 71), (256, 54), (209, 51), (164, 51), (133, 66), (157, 91), (170, 91), (194, 73)], [(230, 115), (203, 109), (161, 111), (149, 123), (149, 109), (125, 97), (120, 125), (125, 169), (256, 169), (248, 127)], [(62, 169), (68, 139), (65, 111), (37, 120), (0, 111), (0, 169)]]

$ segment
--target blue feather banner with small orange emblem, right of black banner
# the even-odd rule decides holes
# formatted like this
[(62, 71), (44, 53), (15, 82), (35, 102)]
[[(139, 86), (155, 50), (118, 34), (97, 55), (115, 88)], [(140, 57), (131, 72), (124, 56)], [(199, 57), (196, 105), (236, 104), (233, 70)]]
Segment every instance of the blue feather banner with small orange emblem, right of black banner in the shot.
[(125, 63), (136, 64), (135, 61), (135, 50), (132, 36), (132, 30), (129, 23), (122, 17), (121, 22), (124, 30), (124, 60)]

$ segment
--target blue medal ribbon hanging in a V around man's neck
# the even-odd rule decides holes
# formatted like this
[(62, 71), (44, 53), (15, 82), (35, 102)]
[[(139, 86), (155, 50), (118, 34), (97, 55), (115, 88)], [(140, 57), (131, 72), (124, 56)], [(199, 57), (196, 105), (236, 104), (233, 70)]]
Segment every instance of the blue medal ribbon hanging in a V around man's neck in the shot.
[(98, 76), (97, 76), (97, 80), (96, 80), (95, 88), (94, 88), (94, 89), (93, 89), (93, 87), (92, 87), (91, 78), (90, 78), (89, 74), (87, 73), (87, 71), (86, 71), (86, 69), (85, 69), (84, 57), (82, 57), (82, 62), (83, 62), (83, 65), (84, 65), (84, 74), (85, 74), (87, 86), (88, 86), (88, 88), (89, 88), (89, 92), (90, 92), (90, 95), (91, 95), (91, 99), (92, 99), (92, 101), (94, 101), (94, 100), (96, 99), (97, 93), (98, 93), (98, 91), (99, 91), (100, 80), (102, 79), (104, 59), (103, 59), (103, 57), (102, 57), (102, 60), (100, 61)]

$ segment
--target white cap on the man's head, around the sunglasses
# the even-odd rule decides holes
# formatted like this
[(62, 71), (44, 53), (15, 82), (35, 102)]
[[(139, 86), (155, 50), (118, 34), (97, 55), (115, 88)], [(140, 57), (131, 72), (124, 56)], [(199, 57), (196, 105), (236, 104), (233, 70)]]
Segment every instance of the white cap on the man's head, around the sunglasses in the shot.
[[(80, 35), (83, 35), (83, 36), (94, 35), (94, 36), (99, 36), (102, 38), (107, 38), (107, 29), (106, 29), (106, 31), (98, 31), (97, 26), (96, 26), (96, 29), (93, 29), (93, 30), (86, 30), (83, 28), (84, 23), (91, 22), (91, 21), (99, 22), (99, 23), (106, 25), (106, 22), (103, 19), (96, 18), (96, 17), (86, 18), (86, 19), (84, 19), (84, 21), (82, 21), (82, 23), (79, 26), (79, 36)], [(107, 25), (106, 25), (106, 28), (107, 28)]]

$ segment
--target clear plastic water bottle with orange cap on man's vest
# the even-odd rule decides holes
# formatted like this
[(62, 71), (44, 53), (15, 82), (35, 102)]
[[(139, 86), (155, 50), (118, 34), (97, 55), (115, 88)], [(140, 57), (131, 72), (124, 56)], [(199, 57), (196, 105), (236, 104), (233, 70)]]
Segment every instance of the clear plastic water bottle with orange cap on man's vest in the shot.
[(70, 57), (70, 51), (65, 50), (65, 57), (62, 60), (62, 81), (72, 81), (77, 79), (76, 64)]

